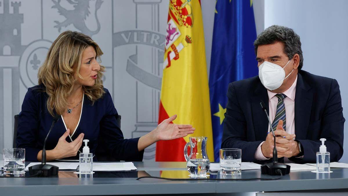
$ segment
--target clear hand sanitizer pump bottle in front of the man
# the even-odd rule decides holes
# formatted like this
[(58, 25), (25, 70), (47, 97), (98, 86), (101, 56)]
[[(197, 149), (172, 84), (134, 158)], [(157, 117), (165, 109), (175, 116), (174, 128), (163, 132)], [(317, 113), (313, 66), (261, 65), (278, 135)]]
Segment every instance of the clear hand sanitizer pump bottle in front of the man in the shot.
[(330, 172), (330, 152), (326, 152), (326, 146), (324, 142), (325, 138), (321, 138), (322, 145), (319, 148), (319, 152), (317, 152), (317, 172), (327, 173)]

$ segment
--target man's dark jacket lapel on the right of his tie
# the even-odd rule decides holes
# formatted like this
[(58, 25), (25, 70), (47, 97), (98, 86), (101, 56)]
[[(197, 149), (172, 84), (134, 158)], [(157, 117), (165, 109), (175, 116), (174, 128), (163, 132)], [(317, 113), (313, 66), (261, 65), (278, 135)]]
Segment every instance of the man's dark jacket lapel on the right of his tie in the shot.
[(298, 73), (296, 94), (295, 94), (295, 134), (297, 140), (304, 140), (307, 137), (310, 112), (312, 108), (313, 92), (309, 91), (310, 86)]

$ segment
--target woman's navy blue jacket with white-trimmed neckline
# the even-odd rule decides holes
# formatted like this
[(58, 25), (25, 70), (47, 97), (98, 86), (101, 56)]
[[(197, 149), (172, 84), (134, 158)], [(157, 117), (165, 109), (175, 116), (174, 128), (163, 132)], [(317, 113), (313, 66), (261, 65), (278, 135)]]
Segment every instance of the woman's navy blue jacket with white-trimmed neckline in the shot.
[[(29, 88), (23, 100), (22, 111), (19, 113), (16, 143), (17, 148), (25, 148), (26, 161), (38, 161), (37, 154), (42, 150), (53, 121), (53, 117), (47, 111), (48, 95), (42, 92), (44, 88), (44, 85)], [(84, 95), (80, 123), (71, 136), (72, 140), (75, 140), (80, 133), (84, 133), (84, 139), (89, 140), (90, 152), (96, 155), (95, 160), (98, 159), (96, 149), (102, 142), (105, 151), (116, 160), (142, 161), (144, 151), (138, 151), (139, 138), (124, 139), (111, 95), (108, 89), (104, 88), (104, 91), (104, 96), (96, 100), (93, 105)], [(46, 150), (54, 149), (65, 131), (62, 118), (59, 118), (47, 138)], [(66, 141), (71, 142), (69, 137)], [(84, 143), (80, 148), (81, 152), (83, 146)], [(79, 159), (79, 152), (77, 156), (65, 159)]]

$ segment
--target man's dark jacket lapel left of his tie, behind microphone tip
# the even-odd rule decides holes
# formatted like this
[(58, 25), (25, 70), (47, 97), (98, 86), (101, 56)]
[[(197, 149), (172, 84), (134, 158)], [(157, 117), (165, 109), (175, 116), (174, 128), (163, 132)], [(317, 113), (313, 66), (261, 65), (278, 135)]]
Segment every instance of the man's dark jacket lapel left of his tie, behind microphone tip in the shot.
[(269, 113), (268, 94), (261, 82), (258, 83), (254, 95), (251, 99), (252, 118), (255, 130), (256, 141), (263, 141), (267, 137), (268, 119), (261, 108), (260, 102), (263, 101), (267, 113)]

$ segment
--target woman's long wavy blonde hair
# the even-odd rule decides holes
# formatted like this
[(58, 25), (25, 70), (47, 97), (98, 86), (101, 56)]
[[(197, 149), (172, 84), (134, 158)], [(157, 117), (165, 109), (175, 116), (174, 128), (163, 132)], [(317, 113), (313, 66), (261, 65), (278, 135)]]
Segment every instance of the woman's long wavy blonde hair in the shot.
[[(96, 58), (100, 62), (102, 50), (89, 36), (80, 32), (61, 33), (49, 48), (46, 60), (39, 69), (38, 81), (39, 85), (44, 84), (46, 87), (44, 91), (48, 95), (47, 110), (52, 116), (55, 115), (54, 111), (61, 115), (68, 108), (68, 95), (73, 90), (76, 77), (82, 79), (80, 75), (82, 53), (89, 46), (94, 47)], [(104, 69), (104, 66), (100, 66), (93, 86), (82, 86), (92, 104), (105, 93), (102, 81)]]

